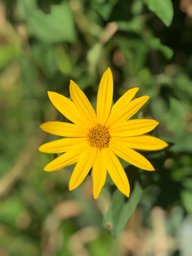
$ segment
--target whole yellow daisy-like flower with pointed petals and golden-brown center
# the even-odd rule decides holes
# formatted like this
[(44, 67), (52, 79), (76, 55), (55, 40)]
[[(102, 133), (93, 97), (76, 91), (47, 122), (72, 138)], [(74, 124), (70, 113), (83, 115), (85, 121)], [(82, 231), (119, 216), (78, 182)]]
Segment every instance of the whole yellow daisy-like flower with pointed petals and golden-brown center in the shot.
[(56, 171), (77, 163), (69, 182), (69, 190), (72, 190), (83, 182), (92, 168), (94, 198), (104, 186), (108, 171), (118, 189), (129, 197), (127, 175), (117, 156), (139, 168), (154, 171), (152, 164), (134, 149), (160, 150), (167, 147), (161, 139), (143, 135), (153, 130), (159, 124), (157, 121), (127, 121), (149, 97), (132, 100), (138, 91), (138, 88), (132, 88), (112, 106), (113, 77), (109, 68), (100, 81), (96, 112), (74, 81), (70, 81), (69, 90), (72, 101), (56, 92), (48, 92), (53, 105), (73, 124), (54, 121), (40, 126), (45, 132), (67, 137), (39, 147), (45, 153), (63, 153), (44, 170)]

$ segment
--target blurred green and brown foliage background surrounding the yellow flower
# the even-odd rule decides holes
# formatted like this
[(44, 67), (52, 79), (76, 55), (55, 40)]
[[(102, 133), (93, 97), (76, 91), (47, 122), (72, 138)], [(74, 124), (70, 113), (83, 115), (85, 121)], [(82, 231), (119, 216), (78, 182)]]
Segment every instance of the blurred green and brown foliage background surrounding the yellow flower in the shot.
[[(170, 144), (143, 153), (155, 172), (123, 163), (129, 200), (109, 178), (97, 200), (92, 177), (69, 192), (74, 166), (44, 172), (56, 155), (38, 152), (56, 139), (39, 125), (66, 121), (47, 91), (72, 79), (95, 107), (107, 67)], [(0, 256), (191, 256), (191, 103), (190, 0), (0, 1)]]

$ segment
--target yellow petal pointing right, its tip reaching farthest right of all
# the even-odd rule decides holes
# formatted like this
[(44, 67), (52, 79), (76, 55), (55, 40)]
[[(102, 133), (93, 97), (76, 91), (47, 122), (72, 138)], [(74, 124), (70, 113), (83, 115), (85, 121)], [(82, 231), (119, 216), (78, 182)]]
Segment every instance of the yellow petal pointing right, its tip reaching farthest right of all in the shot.
[(118, 143), (118, 141), (122, 141), (126, 143), (127, 148), (140, 150), (161, 150), (168, 146), (165, 141), (150, 135), (140, 135), (134, 137), (112, 137), (111, 141), (116, 143)]

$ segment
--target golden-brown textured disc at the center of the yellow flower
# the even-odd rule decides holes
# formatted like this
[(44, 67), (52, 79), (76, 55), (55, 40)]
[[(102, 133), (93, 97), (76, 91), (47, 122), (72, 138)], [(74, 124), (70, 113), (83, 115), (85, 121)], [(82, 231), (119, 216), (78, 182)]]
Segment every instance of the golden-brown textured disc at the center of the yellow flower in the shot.
[(99, 150), (109, 147), (109, 141), (111, 136), (105, 126), (98, 124), (95, 127), (89, 129), (87, 140), (91, 147), (96, 147)]

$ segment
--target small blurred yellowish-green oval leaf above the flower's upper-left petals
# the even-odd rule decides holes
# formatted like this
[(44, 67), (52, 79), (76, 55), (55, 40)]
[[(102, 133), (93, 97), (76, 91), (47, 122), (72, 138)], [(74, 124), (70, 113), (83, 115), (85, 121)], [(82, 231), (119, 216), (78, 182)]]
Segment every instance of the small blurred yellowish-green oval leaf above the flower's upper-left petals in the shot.
[(60, 72), (70, 74), (72, 71), (72, 63), (62, 45), (58, 45), (55, 48), (55, 58)]

